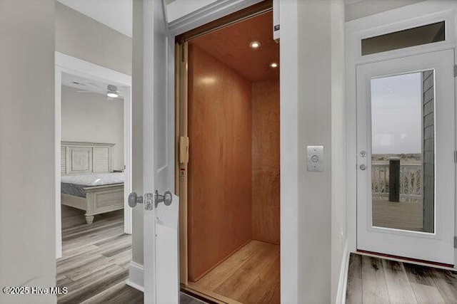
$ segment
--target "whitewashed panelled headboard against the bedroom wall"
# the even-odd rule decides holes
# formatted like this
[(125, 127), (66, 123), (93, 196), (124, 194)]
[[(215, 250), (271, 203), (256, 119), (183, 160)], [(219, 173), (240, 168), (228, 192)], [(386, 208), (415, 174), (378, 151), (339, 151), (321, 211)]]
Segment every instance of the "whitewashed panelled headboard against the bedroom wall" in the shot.
[(61, 142), (61, 175), (111, 172), (113, 146), (96, 142)]

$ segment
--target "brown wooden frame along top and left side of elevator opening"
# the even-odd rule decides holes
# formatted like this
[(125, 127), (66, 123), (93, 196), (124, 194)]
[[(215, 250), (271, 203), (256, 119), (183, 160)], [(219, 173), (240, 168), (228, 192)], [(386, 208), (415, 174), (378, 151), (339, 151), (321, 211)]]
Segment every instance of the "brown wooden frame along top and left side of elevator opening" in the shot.
[[(253, 16), (273, 11), (272, 38), (279, 41), (278, 6), (275, 1), (262, 1), (241, 11), (207, 23), (199, 28), (177, 36), (175, 39), (175, 175), (174, 185), (179, 196), (179, 281), (181, 289), (206, 298), (218, 300), (219, 296), (209, 295), (206, 291), (197, 290), (189, 281), (189, 239), (188, 239), (188, 183), (189, 183), (189, 42), (192, 39), (238, 23)], [(277, 3), (276, 3), (277, 4)], [(276, 12), (275, 12), (276, 11)], [(276, 14), (275, 14), (276, 13)]]

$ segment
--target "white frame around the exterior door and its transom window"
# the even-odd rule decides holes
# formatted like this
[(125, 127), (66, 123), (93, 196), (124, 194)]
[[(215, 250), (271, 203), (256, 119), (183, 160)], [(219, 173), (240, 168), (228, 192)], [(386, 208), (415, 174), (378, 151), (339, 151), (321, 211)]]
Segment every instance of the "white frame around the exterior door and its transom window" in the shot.
[[(445, 41), (361, 56), (360, 46), (361, 39), (363, 38), (401, 31), (438, 21), (446, 22)], [(357, 251), (356, 66), (364, 63), (374, 63), (421, 53), (442, 51), (448, 48), (456, 48), (456, 21), (457, 3), (428, 0), (346, 22), (346, 223), (348, 251), (350, 252), (355, 253)], [(457, 85), (454, 86), (454, 89), (457, 92)], [(455, 229), (457, 229), (457, 210), (455, 227)], [(454, 234), (457, 235), (457, 231), (454, 231)], [(454, 252), (454, 256), (457, 258), (456, 251)], [(392, 259), (402, 261), (401, 258)], [(419, 262), (413, 263), (423, 264)], [(455, 267), (456, 268), (453, 269), (457, 269), (457, 266)]]

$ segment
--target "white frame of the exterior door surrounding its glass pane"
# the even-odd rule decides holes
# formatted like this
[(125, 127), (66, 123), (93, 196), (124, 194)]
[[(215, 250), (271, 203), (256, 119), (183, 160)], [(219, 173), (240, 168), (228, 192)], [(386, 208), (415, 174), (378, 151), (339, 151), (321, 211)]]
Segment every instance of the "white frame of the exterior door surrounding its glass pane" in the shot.
[[(358, 235), (357, 248), (359, 251), (372, 251), (387, 253), (391, 255), (405, 256), (408, 258), (422, 259), (443, 266), (455, 266), (455, 251), (453, 250), (453, 236), (455, 225), (453, 210), (455, 206), (455, 177), (456, 166), (453, 159), (453, 151), (456, 149), (455, 130), (453, 127), (456, 121), (454, 109), (455, 79), (453, 76), (453, 60), (455, 50), (453, 48), (432, 53), (423, 53), (416, 56), (396, 58), (389, 61), (378, 61), (376, 63), (366, 63), (357, 66), (358, 95), (357, 100), (357, 125), (358, 125), (358, 152), (366, 151), (366, 156), (358, 155), (358, 166), (366, 164), (366, 170), (358, 169)], [(452, 64), (449, 64), (449, 63)], [(389, 225), (372, 225), (371, 216), (374, 215), (373, 205), (375, 199), (371, 196), (371, 173), (373, 172), (372, 158), (372, 135), (373, 119), (371, 109), (373, 104), (370, 102), (371, 80), (383, 79), (398, 75), (416, 75), (420, 73), (418, 85), (421, 87), (423, 81), (421, 73), (426, 70), (434, 70), (433, 75), (436, 81), (434, 85), (438, 102), (434, 108), (436, 121), (441, 122), (437, 125), (435, 151), (435, 168), (437, 168), (435, 184), (436, 204), (433, 216), (436, 219), (433, 231), (413, 231), (413, 229), (392, 227)], [(421, 91), (423, 93), (423, 91)], [(417, 101), (417, 100), (416, 100)], [(416, 105), (421, 109), (420, 105)], [(423, 111), (419, 110), (423, 117)], [(416, 130), (423, 132), (423, 122), (418, 121)], [(443, 127), (444, 126), (444, 127)], [(421, 142), (420, 139), (418, 139)], [(423, 164), (422, 164), (423, 166)], [(421, 167), (422, 167), (421, 166)], [(441, 170), (441, 171), (439, 171)], [(440, 173), (441, 172), (441, 173)], [(373, 202), (372, 202), (373, 201)], [(400, 203), (401, 204), (401, 203)], [(425, 204), (425, 201), (423, 201)], [(425, 217), (425, 216), (424, 216)], [(452, 227), (452, 229), (450, 229)]]

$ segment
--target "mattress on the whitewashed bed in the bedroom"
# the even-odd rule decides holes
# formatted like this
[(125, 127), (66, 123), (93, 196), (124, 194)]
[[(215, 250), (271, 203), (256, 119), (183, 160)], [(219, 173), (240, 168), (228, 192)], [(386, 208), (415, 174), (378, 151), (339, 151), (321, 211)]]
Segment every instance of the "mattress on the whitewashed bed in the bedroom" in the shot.
[(61, 193), (86, 197), (84, 188), (124, 183), (124, 173), (74, 174), (61, 177)]

